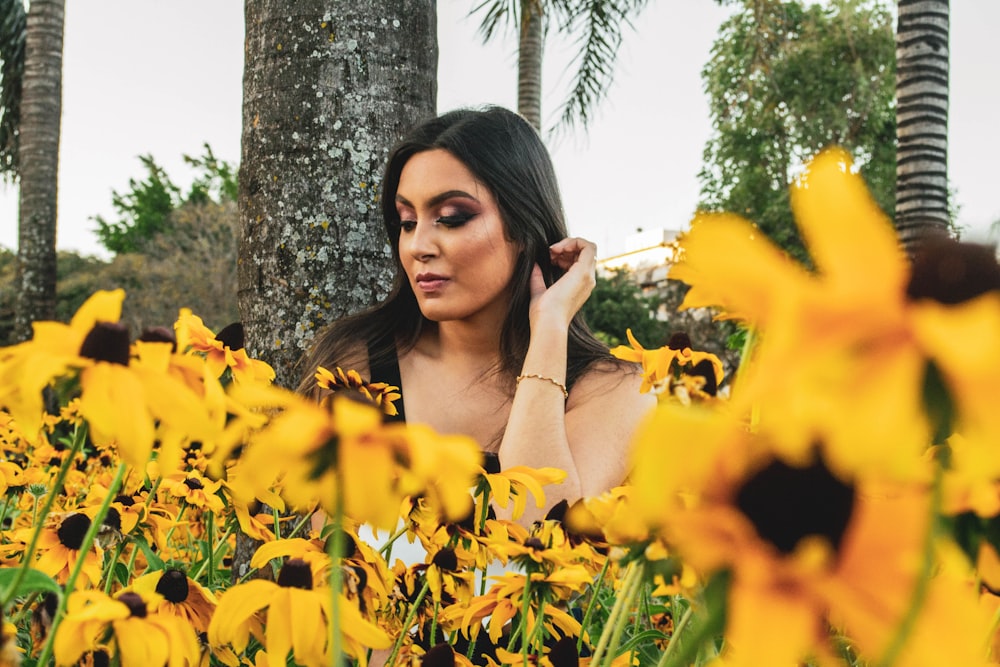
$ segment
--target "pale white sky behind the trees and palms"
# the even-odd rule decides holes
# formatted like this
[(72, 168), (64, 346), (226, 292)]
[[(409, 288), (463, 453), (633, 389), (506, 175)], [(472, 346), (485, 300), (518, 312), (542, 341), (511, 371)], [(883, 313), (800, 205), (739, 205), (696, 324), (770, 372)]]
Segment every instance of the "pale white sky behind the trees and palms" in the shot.
[[(515, 42), (483, 46), (478, 0), (440, 0), (439, 110), (515, 106)], [(589, 133), (550, 148), (570, 232), (608, 256), (636, 228), (686, 226), (698, 200), (697, 172), (709, 136), (700, 70), (728, 10), (714, 0), (654, 0), (626, 34), (615, 83)], [(993, 43), (1000, 2), (951, 8), (949, 169), (966, 237), (984, 240), (1000, 219), (992, 172), (1000, 155), (1000, 77)], [(550, 43), (543, 114), (555, 120), (571, 47)], [(111, 191), (144, 176), (150, 153), (189, 184), (182, 154), (202, 144), (236, 163), (240, 155), (243, 3), (238, 0), (69, 2), (59, 169), (60, 248), (102, 254), (92, 216), (110, 217)], [(0, 184), (0, 245), (17, 245), (17, 191)]]

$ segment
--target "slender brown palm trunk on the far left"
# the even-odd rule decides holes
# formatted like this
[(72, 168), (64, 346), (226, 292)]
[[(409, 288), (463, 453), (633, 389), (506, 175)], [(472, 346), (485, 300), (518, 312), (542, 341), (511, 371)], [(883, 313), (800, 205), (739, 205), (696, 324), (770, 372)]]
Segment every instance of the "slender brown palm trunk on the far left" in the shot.
[(17, 340), (31, 336), (33, 321), (55, 318), (64, 4), (32, 0), (28, 8), (18, 153)]

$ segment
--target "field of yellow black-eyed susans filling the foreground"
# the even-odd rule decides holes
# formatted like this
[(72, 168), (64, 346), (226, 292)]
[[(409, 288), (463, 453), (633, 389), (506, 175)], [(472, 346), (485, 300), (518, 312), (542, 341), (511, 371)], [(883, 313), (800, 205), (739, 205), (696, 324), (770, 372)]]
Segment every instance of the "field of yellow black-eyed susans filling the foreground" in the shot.
[(530, 526), (564, 473), (385, 421), (396, 387), (299, 396), (184, 309), (130, 340), (120, 290), (35, 323), (0, 350), (0, 665), (997, 664), (994, 251), (909, 260), (836, 150), (791, 199), (811, 266), (704, 214), (672, 269), (745, 327), (736, 377), (630, 335), (627, 483)]

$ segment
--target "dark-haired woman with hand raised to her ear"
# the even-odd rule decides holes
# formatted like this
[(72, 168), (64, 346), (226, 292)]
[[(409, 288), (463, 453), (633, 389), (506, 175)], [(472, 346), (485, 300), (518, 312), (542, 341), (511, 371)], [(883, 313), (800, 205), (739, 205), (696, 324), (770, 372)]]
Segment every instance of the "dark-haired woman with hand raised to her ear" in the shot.
[(426, 121), (391, 153), (381, 201), (392, 292), (321, 334), (300, 389), (317, 366), (396, 384), (408, 421), (467, 434), (504, 467), (565, 470), (549, 506), (621, 483), (655, 400), (583, 323), (596, 247), (566, 238), (534, 128), (498, 107)]

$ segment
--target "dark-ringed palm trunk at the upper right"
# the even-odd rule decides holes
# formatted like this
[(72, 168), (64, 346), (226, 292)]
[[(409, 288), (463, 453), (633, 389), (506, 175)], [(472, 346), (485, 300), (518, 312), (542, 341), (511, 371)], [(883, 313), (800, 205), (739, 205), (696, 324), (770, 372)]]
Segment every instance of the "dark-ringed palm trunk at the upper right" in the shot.
[(911, 255), (948, 233), (948, 0), (899, 0), (896, 228)]

